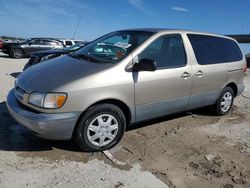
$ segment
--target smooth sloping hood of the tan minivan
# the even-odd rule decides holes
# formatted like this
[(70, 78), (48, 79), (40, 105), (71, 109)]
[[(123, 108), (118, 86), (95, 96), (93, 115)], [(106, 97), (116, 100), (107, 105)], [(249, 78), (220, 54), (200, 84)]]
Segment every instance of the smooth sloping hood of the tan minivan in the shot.
[(30, 67), (17, 77), (16, 84), (28, 93), (53, 92), (65, 84), (110, 66), (65, 55)]

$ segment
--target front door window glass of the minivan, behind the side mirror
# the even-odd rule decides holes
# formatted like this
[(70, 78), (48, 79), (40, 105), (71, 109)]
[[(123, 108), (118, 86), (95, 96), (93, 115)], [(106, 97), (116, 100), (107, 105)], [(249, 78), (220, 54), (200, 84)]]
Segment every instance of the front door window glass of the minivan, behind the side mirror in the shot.
[(152, 42), (140, 55), (156, 61), (157, 69), (183, 67), (186, 53), (180, 35), (165, 35)]

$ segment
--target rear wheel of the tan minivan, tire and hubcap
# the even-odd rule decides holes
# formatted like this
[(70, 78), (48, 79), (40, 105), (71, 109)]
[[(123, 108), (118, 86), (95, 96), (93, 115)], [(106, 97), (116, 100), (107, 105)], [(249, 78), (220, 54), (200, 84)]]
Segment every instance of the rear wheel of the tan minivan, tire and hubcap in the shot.
[(218, 116), (223, 116), (229, 113), (234, 102), (234, 91), (231, 87), (225, 87), (214, 104), (214, 113)]

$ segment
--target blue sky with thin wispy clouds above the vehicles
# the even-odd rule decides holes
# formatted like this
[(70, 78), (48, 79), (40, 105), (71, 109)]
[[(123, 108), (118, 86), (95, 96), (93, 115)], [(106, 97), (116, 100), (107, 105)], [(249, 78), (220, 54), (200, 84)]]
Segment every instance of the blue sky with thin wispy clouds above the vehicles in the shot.
[(90, 41), (145, 27), (250, 34), (250, 0), (0, 0), (0, 36), (73, 38), (77, 28)]

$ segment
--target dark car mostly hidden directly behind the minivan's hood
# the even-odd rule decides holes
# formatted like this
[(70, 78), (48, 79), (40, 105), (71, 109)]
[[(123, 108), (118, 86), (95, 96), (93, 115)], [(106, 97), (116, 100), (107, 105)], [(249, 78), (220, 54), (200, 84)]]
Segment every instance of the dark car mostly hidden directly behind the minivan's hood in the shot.
[(86, 44), (87, 43), (81, 43), (81, 44), (75, 44), (75, 45), (72, 45), (70, 47), (63, 48), (63, 49), (45, 50), (45, 51), (32, 53), (28, 63), (24, 65), (23, 70), (26, 70), (32, 65), (36, 65), (43, 61), (46, 61), (55, 57), (59, 57), (61, 55), (68, 54), (70, 52), (74, 52), (80, 49), (81, 47), (85, 46)]

